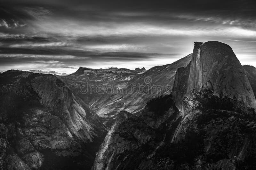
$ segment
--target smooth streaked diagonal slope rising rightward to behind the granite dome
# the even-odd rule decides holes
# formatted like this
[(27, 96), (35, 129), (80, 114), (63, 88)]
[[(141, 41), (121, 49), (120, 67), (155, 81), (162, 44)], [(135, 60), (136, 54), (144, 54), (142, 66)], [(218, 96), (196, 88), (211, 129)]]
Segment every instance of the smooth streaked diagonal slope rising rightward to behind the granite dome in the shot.
[(101, 97), (92, 110), (105, 117), (113, 117), (121, 110), (132, 114), (140, 112), (152, 97), (171, 93), (177, 68), (186, 66), (191, 56), (189, 54), (172, 64), (152, 67), (137, 75), (126, 84), (125, 89), (120, 89), (108, 98)]

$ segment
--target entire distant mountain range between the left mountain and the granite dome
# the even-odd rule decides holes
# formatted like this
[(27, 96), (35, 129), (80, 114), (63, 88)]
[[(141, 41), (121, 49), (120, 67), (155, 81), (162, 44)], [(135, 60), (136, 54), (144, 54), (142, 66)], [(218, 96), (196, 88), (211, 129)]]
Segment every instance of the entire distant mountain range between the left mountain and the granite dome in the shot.
[[(172, 64), (152, 67), (142, 74), (138, 74), (141, 69), (80, 67), (75, 73), (60, 78), (104, 121), (110, 121), (110, 124), (105, 123), (111, 126), (120, 111), (138, 113), (152, 97), (160, 93), (170, 94), (177, 68), (187, 66), (191, 57), (189, 54)], [(86, 82), (93, 88), (84, 94), (80, 87), (85, 87)], [(101, 87), (102, 93), (96, 90), (97, 86)]]

